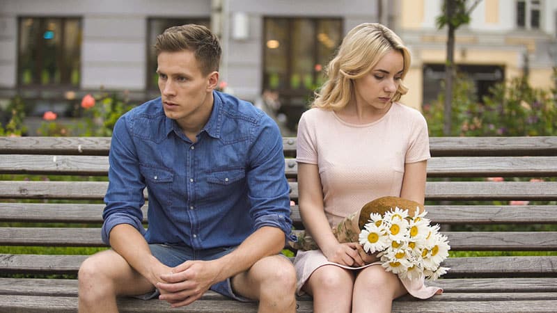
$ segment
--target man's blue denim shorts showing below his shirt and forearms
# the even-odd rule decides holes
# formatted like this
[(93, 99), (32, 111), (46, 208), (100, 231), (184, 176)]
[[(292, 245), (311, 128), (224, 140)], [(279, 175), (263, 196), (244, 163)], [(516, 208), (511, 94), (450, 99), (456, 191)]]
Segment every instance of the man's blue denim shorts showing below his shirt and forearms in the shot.
[[(232, 252), (236, 247), (193, 250), (186, 246), (150, 243), (149, 248), (151, 249), (152, 255), (154, 255), (160, 262), (162, 262), (162, 264), (169, 267), (174, 267), (190, 260), (208, 261), (212, 259), (218, 259), (219, 257), (228, 255), (228, 253)], [(233, 298), (235, 300), (239, 300), (242, 302), (255, 302), (255, 300), (244, 298), (235, 294), (232, 290), (230, 278), (213, 284), (210, 289), (217, 292), (218, 294)], [(155, 291), (153, 292), (143, 294), (141, 296), (134, 296), (134, 298), (149, 300), (152, 298), (158, 298), (159, 295), (159, 290), (155, 289)]]

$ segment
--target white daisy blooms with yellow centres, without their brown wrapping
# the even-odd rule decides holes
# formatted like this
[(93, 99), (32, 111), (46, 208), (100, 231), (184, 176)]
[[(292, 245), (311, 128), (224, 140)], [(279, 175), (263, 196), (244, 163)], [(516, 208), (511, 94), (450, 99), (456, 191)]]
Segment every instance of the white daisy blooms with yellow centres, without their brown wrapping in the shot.
[(439, 225), (431, 226), (426, 214), (421, 207), (372, 212), (361, 229), (359, 243), (366, 252), (377, 253), (386, 271), (400, 278), (414, 280), (423, 275), (436, 280), (449, 269), (440, 264), (448, 257), (450, 246), (439, 233)]

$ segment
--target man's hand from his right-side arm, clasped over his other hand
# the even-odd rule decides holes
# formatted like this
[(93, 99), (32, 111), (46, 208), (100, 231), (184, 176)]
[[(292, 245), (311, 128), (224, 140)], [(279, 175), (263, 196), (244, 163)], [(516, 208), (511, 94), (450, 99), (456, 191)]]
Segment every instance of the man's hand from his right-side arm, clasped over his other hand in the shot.
[(171, 273), (160, 276), (163, 282), (156, 287), (161, 292), (160, 300), (165, 300), (172, 307), (182, 307), (201, 298), (212, 284), (219, 282), (221, 267), (214, 261), (187, 261), (175, 268)]

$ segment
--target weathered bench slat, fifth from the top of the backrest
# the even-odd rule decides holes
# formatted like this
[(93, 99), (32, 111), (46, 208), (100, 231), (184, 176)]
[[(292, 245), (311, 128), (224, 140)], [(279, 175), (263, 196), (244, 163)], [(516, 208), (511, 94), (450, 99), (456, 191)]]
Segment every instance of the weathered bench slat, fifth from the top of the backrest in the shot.
[[(295, 231), (297, 232), (297, 231)], [(557, 250), (557, 232), (443, 232), (452, 250)], [(1, 227), (3, 246), (104, 246), (100, 228)]]

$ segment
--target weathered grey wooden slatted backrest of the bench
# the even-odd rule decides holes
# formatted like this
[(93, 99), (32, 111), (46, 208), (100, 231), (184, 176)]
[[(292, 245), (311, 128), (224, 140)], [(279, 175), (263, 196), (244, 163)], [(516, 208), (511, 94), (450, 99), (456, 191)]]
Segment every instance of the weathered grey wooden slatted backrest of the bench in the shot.
[[(75, 274), (86, 257), (6, 252), (11, 246), (104, 247), (109, 145), (110, 138), (0, 137), (0, 246), (10, 246), (0, 251), (0, 273)], [(296, 138), (283, 145), (297, 203)], [(430, 150), (426, 210), (451, 250), (509, 252), (450, 257), (446, 278), (556, 277), (557, 257), (544, 252), (557, 250), (557, 136), (430, 138)], [(292, 219), (303, 228), (296, 205)]]

